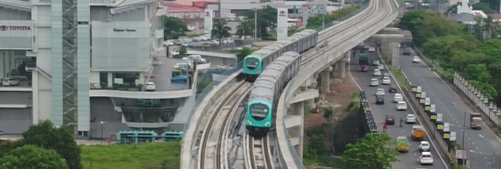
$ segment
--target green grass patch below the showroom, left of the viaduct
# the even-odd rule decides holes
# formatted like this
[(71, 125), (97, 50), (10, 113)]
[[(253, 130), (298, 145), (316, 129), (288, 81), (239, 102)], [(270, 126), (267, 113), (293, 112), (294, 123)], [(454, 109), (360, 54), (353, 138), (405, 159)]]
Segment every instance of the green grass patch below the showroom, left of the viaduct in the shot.
[(81, 145), (84, 168), (179, 168), (179, 142), (121, 145)]

